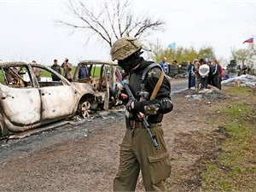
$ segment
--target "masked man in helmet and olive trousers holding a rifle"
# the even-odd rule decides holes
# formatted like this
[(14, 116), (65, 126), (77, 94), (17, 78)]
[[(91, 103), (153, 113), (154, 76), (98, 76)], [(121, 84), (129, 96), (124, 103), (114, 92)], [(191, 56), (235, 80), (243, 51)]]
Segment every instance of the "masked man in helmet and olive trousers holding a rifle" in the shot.
[(135, 191), (140, 171), (146, 191), (166, 191), (171, 173), (161, 126), (164, 114), (173, 108), (171, 84), (159, 64), (143, 59), (142, 48), (137, 38), (119, 38), (110, 52), (129, 75), (128, 87), (119, 94), (126, 103), (126, 131), (113, 191)]

